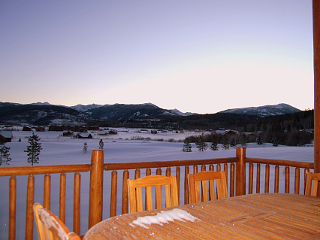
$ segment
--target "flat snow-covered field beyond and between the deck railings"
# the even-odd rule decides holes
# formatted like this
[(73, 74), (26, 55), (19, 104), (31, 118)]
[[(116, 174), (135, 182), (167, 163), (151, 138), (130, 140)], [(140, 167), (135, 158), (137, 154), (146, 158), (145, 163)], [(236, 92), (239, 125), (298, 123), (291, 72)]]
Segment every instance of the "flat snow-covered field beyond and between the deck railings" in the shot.
[[(195, 145), (192, 145), (192, 152), (182, 151), (183, 140), (186, 136), (195, 135), (194, 132), (166, 132), (151, 134), (150, 132), (139, 132), (138, 129), (118, 129), (117, 135), (99, 136), (98, 132), (92, 132), (92, 139), (73, 139), (62, 137), (62, 132), (36, 132), (41, 138), (42, 151), (39, 165), (61, 165), (61, 164), (89, 164), (90, 152), (99, 148), (99, 140), (104, 142), (104, 161), (114, 162), (144, 162), (144, 161), (165, 161), (165, 160), (188, 160), (188, 159), (208, 159), (221, 157), (234, 157), (236, 149), (211, 151), (210, 149), (199, 152)], [(29, 166), (27, 153), (24, 152), (28, 145), (28, 137), (31, 132), (13, 132), (13, 141), (7, 143), (10, 147), (10, 166)], [(19, 138), (21, 142), (19, 142)], [(143, 140), (135, 140), (143, 139)], [(180, 140), (180, 141), (179, 141)], [(87, 153), (83, 152), (84, 142), (88, 144)], [(269, 159), (284, 159), (294, 161), (313, 162), (313, 147), (272, 147), (270, 144), (259, 146), (248, 144), (247, 157), (259, 157)], [(4, 166), (5, 167), (5, 166)], [(130, 173), (130, 177), (133, 174)], [(175, 174), (173, 172), (173, 174)], [(293, 174), (291, 174), (293, 175)], [(122, 174), (118, 173), (118, 199), (121, 199), (121, 179)], [(52, 175), (51, 186), (51, 210), (58, 215), (59, 201), (59, 175)], [(43, 202), (43, 176), (36, 176), (35, 202)], [(89, 173), (81, 174), (81, 234), (84, 234), (88, 226), (88, 193), (89, 193)], [(73, 203), (73, 174), (67, 174), (67, 206)], [(262, 183), (263, 185), (263, 183)], [(291, 184), (293, 185), (293, 184)], [(25, 205), (26, 205), (27, 177), (17, 177), (17, 235), (16, 239), (24, 239), (25, 231)], [(281, 189), (280, 189), (281, 190)], [(0, 177), (0, 239), (8, 239), (8, 206), (9, 206), (9, 178)], [(109, 217), (110, 206), (110, 173), (105, 173), (104, 177), (104, 211), (103, 218)], [(119, 205), (120, 206), (120, 205)], [(120, 208), (117, 209), (120, 214)], [(72, 208), (67, 208), (66, 225), (72, 229)], [(34, 232), (34, 239), (37, 239)]]

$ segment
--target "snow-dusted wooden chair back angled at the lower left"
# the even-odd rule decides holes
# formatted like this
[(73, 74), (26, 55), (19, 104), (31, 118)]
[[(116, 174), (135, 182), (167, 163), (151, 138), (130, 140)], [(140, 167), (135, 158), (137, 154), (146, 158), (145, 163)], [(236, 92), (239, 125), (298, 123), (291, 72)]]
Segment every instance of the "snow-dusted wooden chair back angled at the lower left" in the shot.
[(64, 223), (41, 204), (33, 205), (39, 240), (80, 240), (74, 232), (70, 232)]

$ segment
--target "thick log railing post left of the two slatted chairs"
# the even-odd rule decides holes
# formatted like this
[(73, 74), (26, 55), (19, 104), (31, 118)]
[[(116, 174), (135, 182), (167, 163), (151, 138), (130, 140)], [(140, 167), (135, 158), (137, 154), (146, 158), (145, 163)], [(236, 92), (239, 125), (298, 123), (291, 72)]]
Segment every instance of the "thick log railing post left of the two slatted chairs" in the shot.
[(103, 157), (103, 150), (92, 150), (89, 190), (89, 228), (102, 221)]

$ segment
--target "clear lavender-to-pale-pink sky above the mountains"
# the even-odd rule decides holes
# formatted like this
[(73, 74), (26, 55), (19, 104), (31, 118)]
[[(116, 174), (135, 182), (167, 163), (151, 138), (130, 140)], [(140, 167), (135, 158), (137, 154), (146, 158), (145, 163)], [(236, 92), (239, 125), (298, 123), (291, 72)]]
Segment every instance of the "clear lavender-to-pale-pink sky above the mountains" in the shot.
[(313, 108), (312, 0), (0, 1), (0, 102)]

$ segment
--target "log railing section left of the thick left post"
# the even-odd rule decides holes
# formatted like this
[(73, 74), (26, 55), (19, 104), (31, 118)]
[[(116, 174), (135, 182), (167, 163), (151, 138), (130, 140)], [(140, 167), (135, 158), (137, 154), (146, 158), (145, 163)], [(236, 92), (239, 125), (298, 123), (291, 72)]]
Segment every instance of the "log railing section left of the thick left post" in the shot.
[[(26, 196), (25, 239), (33, 239), (33, 204), (35, 192), (35, 175), (44, 175), (43, 206), (50, 209), (51, 175), (60, 174), (59, 217), (65, 222), (66, 212), (66, 173), (74, 173), (73, 231), (80, 233), (80, 187), (81, 172), (90, 171), (90, 165), (56, 165), (34, 167), (1, 168), (0, 176), (10, 176), (9, 180), (9, 239), (16, 236), (16, 196), (17, 176), (28, 176)], [(6, 193), (3, 193), (6, 194)], [(71, 206), (68, 206), (71, 207)], [(3, 216), (1, 216), (3, 217)]]

